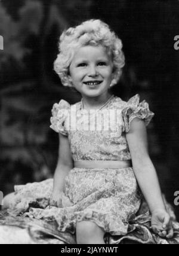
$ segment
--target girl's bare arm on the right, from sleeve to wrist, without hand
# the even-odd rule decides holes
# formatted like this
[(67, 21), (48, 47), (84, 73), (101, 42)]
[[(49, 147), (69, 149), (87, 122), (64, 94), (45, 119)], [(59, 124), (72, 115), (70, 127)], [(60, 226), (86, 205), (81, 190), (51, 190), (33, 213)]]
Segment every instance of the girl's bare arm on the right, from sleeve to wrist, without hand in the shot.
[(134, 118), (126, 133), (132, 166), (150, 211), (165, 209), (155, 167), (148, 153), (147, 131), (143, 120)]

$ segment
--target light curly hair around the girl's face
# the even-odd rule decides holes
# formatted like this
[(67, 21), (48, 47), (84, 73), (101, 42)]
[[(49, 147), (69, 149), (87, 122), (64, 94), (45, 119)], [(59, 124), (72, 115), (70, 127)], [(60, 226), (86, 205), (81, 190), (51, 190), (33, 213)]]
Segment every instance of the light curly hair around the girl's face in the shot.
[(125, 65), (122, 41), (109, 26), (101, 20), (87, 20), (75, 28), (69, 28), (60, 36), (59, 54), (54, 62), (54, 71), (61, 78), (63, 86), (73, 87), (69, 80), (69, 66), (75, 51), (85, 45), (103, 45), (112, 56), (114, 71), (110, 87), (118, 83)]

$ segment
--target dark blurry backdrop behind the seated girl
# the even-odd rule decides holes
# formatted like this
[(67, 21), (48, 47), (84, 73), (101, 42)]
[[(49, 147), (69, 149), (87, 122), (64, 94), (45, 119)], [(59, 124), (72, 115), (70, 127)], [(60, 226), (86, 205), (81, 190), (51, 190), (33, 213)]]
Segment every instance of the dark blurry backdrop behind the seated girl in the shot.
[[(2, 0), (0, 2), (0, 190), (53, 176), (58, 135), (50, 129), (53, 103), (81, 96), (53, 71), (64, 28), (87, 19), (108, 23), (124, 43), (126, 66), (115, 95), (136, 93), (155, 117), (149, 150), (166, 198), (179, 190), (179, 35), (177, 0)], [(179, 218), (179, 206), (175, 206)]]

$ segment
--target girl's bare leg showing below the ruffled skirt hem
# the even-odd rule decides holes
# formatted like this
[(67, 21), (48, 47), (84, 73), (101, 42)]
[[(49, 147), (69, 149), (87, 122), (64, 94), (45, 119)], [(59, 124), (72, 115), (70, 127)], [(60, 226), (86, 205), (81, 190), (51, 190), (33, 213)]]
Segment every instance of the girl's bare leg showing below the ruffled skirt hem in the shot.
[(76, 224), (76, 241), (78, 244), (105, 244), (105, 231), (92, 221), (81, 221)]

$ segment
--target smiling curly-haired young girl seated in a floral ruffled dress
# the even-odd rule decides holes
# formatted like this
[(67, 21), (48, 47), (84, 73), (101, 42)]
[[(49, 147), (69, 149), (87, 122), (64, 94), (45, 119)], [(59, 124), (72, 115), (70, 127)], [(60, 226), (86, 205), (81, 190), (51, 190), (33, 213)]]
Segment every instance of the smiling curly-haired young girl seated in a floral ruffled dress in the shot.
[[(59, 50), (54, 69), (82, 100), (54, 104), (54, 179), (17, 186), (13, 207), (30, 218), (55, 220), (77, 243), (173, 243), (171, 217), (147, 150), (146, 126), (154, 114), (138, 95), (125, 102), (110, 90), (125, 62), (121, 40), (105, 23), (89, 20), (64, 31)], [(37, 208), (29, 209), (34, 202)]]

